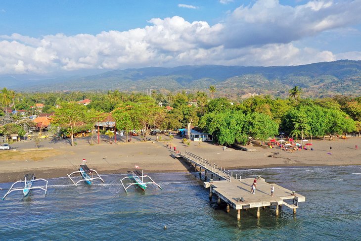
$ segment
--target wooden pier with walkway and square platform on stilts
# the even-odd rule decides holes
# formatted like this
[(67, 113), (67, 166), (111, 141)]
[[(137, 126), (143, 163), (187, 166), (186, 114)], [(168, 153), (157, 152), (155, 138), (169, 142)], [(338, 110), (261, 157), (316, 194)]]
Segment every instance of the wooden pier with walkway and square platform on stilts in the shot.
[[(193, 154), (190, 152), (179, 153), (179, 155), (187, 160), (190, 165), (199, 167), (199, 177), (201, 178), (202, 169), (205, 172), (204, 187), (209, 188), (209, 196), (212, 193), (218, 196), (218, 203), (221, 200), (227, 203), (227, 212), (232, 207), (237, 210), (237, 219), (240, 220), (240, 210), (248, 208), (257, 208), (257, 217), (260, 217), (260, 207), (275, 206), (275, 215), (278, 216), (279, 207), (284, 205), (293, 209), (296, 213), (299, 202), (306, 201), (306, 197), (298, 193), (294, 193), (279, 185), (267, 183), (265, 179), (257, 177), (255, 194), (251, 193), (251, 186), (254, 178), (241, 178), (237, 174), (222, 169), (216, 164)], [(207, 172), (211, 174), (211, 179), (207, 182)], [(213, 180), (218, 178), (218, 181)], [(271, 196), (271, 186), (274, 187), (273, 196)]]

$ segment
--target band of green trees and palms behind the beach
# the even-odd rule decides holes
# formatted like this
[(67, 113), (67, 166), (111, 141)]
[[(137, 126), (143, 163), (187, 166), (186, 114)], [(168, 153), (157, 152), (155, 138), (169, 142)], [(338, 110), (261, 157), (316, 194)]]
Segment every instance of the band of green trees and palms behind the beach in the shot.
[[(216, 91), (211, 86), (209, 93), (182, 91), (165, 95), (152, 91), (146, 95), (117, 90), (15, 93), (4, 88), (0, 91), (0, 102), (3, 109), (28, 111), (36, 111), (31, 106), (43, 103), (43, 112), (54, 113), (52, 124), (71, 137), (81, 130), (92, 130), (104, 113), (111, 113), (116, 129), (125, 130), (126, 135), (131, 130), (142, 129), (145, 139), (150, 129), (174, 130), (191, 122), (222, 145), (266, 140), (280, 132), (295, 138), (361, 132), (361, 97), (301, 98), (302, 90), (296, 86), (289, 91), (289, 98), (252, 96), (237, 102), (214, 98)], [(77, 103), (85, 98), (91, 100), (89, 105)], [(166, 111), (166, 105), (173, 109)], [(20, 120), (16, 114), (12, 119), (14, 123)]]

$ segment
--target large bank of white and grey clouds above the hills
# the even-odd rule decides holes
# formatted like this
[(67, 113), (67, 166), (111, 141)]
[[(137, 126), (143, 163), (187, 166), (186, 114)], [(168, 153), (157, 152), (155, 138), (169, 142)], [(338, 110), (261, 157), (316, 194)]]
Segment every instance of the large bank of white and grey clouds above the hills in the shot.
[[(294, 42), (360, 22), (361, 0), (310, 1), (295, 7), (259, 0), (230, 12), (222, 23), (153, 18), (144, 28), (96, 35), (32, 38), (0, 36), (0, 74), (46, 74), (185, 64), (298, 65), (361, 59), (360, 51), (334, 54)], [(345, 31), (345, 34), (347, 31)]]

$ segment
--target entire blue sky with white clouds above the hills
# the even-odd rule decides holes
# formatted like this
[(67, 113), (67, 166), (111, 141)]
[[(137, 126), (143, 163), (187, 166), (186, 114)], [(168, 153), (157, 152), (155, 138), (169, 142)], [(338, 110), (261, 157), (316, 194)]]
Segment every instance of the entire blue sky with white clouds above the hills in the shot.
[(0, 75), (361, 60), (361, 0), (1, 0)]

